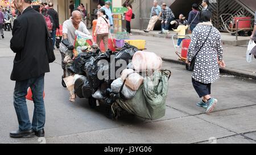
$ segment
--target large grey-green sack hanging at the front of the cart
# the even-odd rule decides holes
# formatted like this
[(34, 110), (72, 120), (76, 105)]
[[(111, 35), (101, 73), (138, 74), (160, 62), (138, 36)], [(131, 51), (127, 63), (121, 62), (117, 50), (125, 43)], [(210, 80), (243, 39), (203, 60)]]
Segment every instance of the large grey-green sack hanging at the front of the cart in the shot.
[(169, 71), (156, 70), (145, 77), (135, 96), (129, 100), (117, 99), (115, 102), (124, 110), (144, 119), (159, 119), (166, 112)]

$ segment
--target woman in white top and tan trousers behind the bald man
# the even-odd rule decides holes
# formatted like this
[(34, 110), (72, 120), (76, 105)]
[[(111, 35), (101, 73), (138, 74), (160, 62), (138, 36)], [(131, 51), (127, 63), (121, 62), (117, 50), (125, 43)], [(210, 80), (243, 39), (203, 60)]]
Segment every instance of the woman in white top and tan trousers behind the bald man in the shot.
[(108, 20), (108, 15), (104, 9), (100, 9), (98, 12), (99, 18), (97, 20), (96, 30), (94, 31), (93, 35), (97, 36), (97, 45), (100, 47), (101, 40), (103, 40), (105, 51), (108, 50), (108, 41), (109, 41), (109, 27), (110, 22)]

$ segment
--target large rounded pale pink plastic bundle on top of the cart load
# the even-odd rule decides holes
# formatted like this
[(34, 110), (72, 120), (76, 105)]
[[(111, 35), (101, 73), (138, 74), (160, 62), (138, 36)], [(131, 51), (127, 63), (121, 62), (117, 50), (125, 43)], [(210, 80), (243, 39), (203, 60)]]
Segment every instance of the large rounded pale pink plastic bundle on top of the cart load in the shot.
[(138, 51), (133, 56), (135, 70), (159, 70), (162, 64), (162, 58), (152, 52)]

